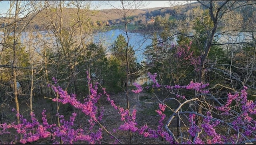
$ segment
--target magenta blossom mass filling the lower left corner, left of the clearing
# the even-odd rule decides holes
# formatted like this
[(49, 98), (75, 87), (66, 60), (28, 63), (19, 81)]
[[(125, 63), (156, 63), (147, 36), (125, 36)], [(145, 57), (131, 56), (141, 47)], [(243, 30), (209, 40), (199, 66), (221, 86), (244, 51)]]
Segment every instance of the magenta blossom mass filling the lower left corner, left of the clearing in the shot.
[[(55, 78), (53, 78), (53, 80), (57, 83)], [(95, 132), (92, 131), (95, 126), (95, 122), (100, 121), (103, 115), (101, 114), (99, 117), (96, 117), (96, 102), (99, 99), (99, 95), (97, 95), (97, 87), (94, 86), (94, 88), (92, 88), (92, 84), (90, 84), (91, 95), (84, 100), (84, 103), (81, 103), (76, 99), (75, 94), (68, 95), (68, 93), (62, 90), (60, 86), (50, 86), (59, 96), (52, 99), (54, 102), (61, 102), (62, 104), (70, 103), (75, 108), (82, 110), (85, 115), (89, 116), (89, 128), (84, 130), (82, 128), (74, 127), (76, 113), (73, 113), (68, 121), (64, 119), (63, 115), (57, 114), (57, 117), (60, 118), (60, 125), (49, 125), (46, 119), (46, 110), (43, 110), (42, 123), (39, 123), (39, 121), (36, 120), (33, 113), (30, 114), (31, 121), (27, 121), (20, 115), (20, 124), (4, 123), (0, 125), (0, 128), (2, 128), (0, 133), (10, 133), (6, 130), (14, 128), (18, 134), (22, 134), (22, 138), (19, 140), (20, 143), (28, 143), (37, 141), (40, 138), (52, 137), (52, 141), (55, 144), (60, 143), (60, 139), (63, 144), (73, 144), (78, 141), (87, 141), (89, 144), (95, 144), (96, 141), (102, 139), (102, 128), (96, 129)], [(18, 135), (16, 138), (18, 138)]]

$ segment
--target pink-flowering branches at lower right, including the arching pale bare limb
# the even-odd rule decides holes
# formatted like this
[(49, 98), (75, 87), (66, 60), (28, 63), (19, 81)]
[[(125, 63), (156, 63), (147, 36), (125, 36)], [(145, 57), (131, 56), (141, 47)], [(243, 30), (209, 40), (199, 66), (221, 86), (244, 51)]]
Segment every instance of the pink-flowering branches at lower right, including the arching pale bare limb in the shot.
[[(155, 84), (157, 83), (156, 79), (156, 73), (154, 75), (148, 73), (150, 75), (150, 79), (152, 79), (152, 82)], [(154, 84), (153, 84), (154, 85)], [(167, 100), (175, 100), (180, 105), (174, 110), (174, 113), (170, 116), (169, 120), (166, 122), (166, 125), (164, 126), (166, 131), (170, 134), (172, 137), (174, 143), (185, 143), (185, 144), (212, 144), (212, 143), (246, 143), (246, 142), (252, 142), (256, 141), (256, 120), (252, 117), (256, 114), (256, 102), (252, 100), (247, 100), (247, 87), (244, 86), (244, 89), (241, 90), (241, 92), (235, 92), (234, 94), (228, 93), (228, 100), (225, 104), (222, 104), (216, 99), (212, 94), (209, 94), (210, 91), (206, 89), (206, 87), (209, 84), (203, 84), (199, 82), (193, 82), (191, 81), (188, 85), (175, 85), (175, 86), (164, 86), (168, 92), (171, 94), (174, 94), (176, 98), (182, 97), (182, 100), (177, 100), (175, 98), (167, 98), (160, 102), (165, 102)], [(142, 88), (138, 84), (136, 84), (137, 88), (140, 89), (146, 89), (148, 88)], [(186, 96), (178, 94), (178, 90), (184, 89), (184, 90), (195, 90), (201, 94), (198, 94), (197, 96), (194, 96), (192, 99), (187, 99)], [(174, 91), (176, 90), (176, 91)], [(218, 102), (219, 106), (212, 106), (206, 101), (202, 101), (198, 99), (198, 96), (204, 95), (204, 96), (210, 96), (210, 98), (214, 99), (216, 102)], [(191, 98), (191, 97), (190, 97)], [(182, 102), (180, 102), (182, 101)], [(204, 110), (207, 110), (206, 116), (203, 114), (199, 114), (198, 112), (189, 112), (189, 111), (182, 111), (182, 106), (185, 104), (196, 104), (196, 102), (202, 102), (204, 106), (208, 106), (209, 108), (205, 108), (204, 106), (201, 106)], [(235, 101), (235, 104), (232, 106), (231, 102)], [(190, 106), (190, 105), (189, 105)], [(236, 107), (236, 110), (234, 110), (234, 106)], [(237, 110), (240, 110), (241, 112), (237, 112)], [(212, 117), (212, 113), (218, 114), (217, 116), (232, 116), (231, 119), (226, 119), (223, 117), (220, 118), (214, 118)], [(184, 138), (187, 141), (180, 141), (177, 139), (172, 133), (172, 131), (169, 129), (169, 125), (172, 123), (172, 120), (179, 116), (179, 115), (188, 115), (188, 121), (190, 124), (188, 125), (188, 133), (190, 134), (190, 137), (193, 137), (193, 139)], [(201, 116), (203, 119), (203, 122), (199, 125), (196, 125), (194, 122), (195, 116)], [(184, 124), (185, 125), (185, 124)], [(233, 129), (236, 131), (237, 134), (225, 136), (216, 131), (217, 128), (224, 128), (226, 130)], [(207, 139), (206, 139), (207, 138)]]

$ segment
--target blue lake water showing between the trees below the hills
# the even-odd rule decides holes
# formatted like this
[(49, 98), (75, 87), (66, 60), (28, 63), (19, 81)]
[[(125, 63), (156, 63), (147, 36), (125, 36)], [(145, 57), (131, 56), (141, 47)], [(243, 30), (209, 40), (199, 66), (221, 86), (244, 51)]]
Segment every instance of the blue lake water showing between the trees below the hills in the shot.
[[(3, 33), (0, 33), (1, 35)], [(33, 37), (31, 38), (28, 36), (28, 33), (23, 32), (22, 33), (22, 43), (24, 42), (24, 45), (26, 46), (26, 40), (28, 41), (33, 41), (33, 43), (38, 43), (38, 38), (36, 37), (36, 35), (40, 34), (42, 37), (40, 39), (44, 39), (44, 41), (47, 41), (50, 43), (52, 43), (52, 38), (50, 37), (49, 33), (47, 31), (37, 31), (37, 32), (33, 32)], [(124, 37), (126, 38), (127, 41), (127, 37), (126, 34), (124, 33), (124, 31), (120, 30), (120, 29), (113, 29), (110, 31), (105, 31), (105, 32), (98, 32), (98, 33), (94, 33), (88, 37), (93, 38), (94, 43), (96, 44), (100, 44), (103, 45), (104, 47), (106, 47), (107, 49), (107, 53), (109, 52), (109, 49), (112, 47), (112, 45), (114, 44), (114, 41), (116, 40), (116, 38), (118, 37), (118, 35), (124, 35)], [(252, 37), (250, 37), (250, 33), (234, 33), (232, 34), (228, 34), (228, 35), (218, 35), (216, 33), (216, 40), (220, 43), (236, 43), (236, 42), (245, 42), (245, 41), (251, 41)], [(135, 55), (137, 58), (137, 62), (140, 63), (141, 61), (144, 61), (145, 57), (143, 55), (143, 52), (145, 51), (145, 48), (147, 45), (152, 45), (152, 36), (150, 35), (146, 35), (143, 33), (134, 33), (134, 32), (128, 32), (128, 37), (129, 37), (129, 45), (131, 45), (135, 51)], [(88, 41), (91, 41), (92, 39), (88, 38)], [(1, 38), (0, 38), (1, 40)], [(40, 40), (39, 40), (40, 41)], [(174, 37), (173, 42), (176, 43), (177, 41), (177, 37)], [(241, 45), (241, 44), (240, 44)], [(232, 45), (233, 47), (241, 47), (240, 45)], [(0, 46), (1, 47), (1, 46)], [(40, 48), (43, 46), (37, 45), (36, 50), (40, 51)], [(222, 47), (224, 49), (226, 49), (226, 47), (224, 47), (224, 45), (222, 45)]]

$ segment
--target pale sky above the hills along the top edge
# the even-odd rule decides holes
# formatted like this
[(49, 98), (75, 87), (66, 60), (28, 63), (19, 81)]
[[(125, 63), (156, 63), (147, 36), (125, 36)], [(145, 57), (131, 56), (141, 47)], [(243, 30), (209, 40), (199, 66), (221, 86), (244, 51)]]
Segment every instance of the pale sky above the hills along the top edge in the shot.
[[(192, 0), (193, 2), (194, 0)], [(98, 2), (102, 2), (98, 1), (98, 0), (92, 0), (92, 2), (94, 2), (94, 4), (97, 4)], [(116, 0), (116, 1), (112, 1), (114, 3), (112, 3), (114, 6), (118, 7), (118, 5), (120, 5), (120, 1)], [(172, 4), (182, 4), (184, 2), (190, 2), (190, 0), (145, 0), (145, 2), (148, 2), (149, 4), (146, 7), (143, 8), (156, 8), (156, 7), (170, 7), (170, 3)], [(9, 1), (8, 0), (3, 0), (0, 1), (0, 15), (3, 13), (6, 13), (7, 10), (9, 8)], [(100, 7), (98, 7), (98, 10), (101, 9), (110, 9), (112, 7), (107, 6), (107, 5), (102, 5)]]

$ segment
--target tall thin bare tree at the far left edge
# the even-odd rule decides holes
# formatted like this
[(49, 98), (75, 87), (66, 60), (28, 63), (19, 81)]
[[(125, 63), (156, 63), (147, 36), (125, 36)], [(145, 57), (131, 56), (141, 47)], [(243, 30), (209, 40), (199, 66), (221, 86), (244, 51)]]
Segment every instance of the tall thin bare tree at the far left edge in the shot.
[[(6, 16), (2, 18), (4, 21), (4, 30), (3, 39), (7, 40), (6, 38), (11, 37), (11, 41), (9, 45), (5, 45), (7, 43), (2, 43), (3, 48), (8, 49), (12, 45), (12, 62), (10, 62), (7, 66), (12, 69), (11, 75), (11, 84), (13, 89), (13, 97), (15, 99), (16, 104), (16, 111), (17, 114), (20, 114), (19, 109), (19, 101), (18, 101), (18, 88), (17, 88), (17, 71), (21, 69), (21, 66), (18, 66), (18, 52), (20, 51), (20, 46), (22, 43), (21, 37), (24, 33), (24, 29), (30, 24), (33, 18), (40, 12), (43, 7), (40, 1), (10, 1), (10, 8), (5, 14)], [(4, 50), (2, 50), (4, 51)], [(26, 68), (30, 69), (30, 68)], [(20, 118), (17, 116), (17, 123), (20, 123)]]

